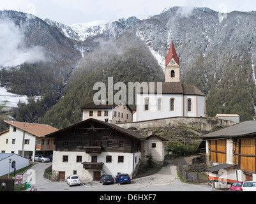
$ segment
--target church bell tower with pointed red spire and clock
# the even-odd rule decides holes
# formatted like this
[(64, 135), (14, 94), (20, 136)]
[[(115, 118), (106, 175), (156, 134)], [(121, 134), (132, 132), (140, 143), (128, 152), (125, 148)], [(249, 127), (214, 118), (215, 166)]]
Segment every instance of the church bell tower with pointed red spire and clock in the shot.
[(180, 82), (179, 57), (177, 57), (173, 41), (165, 61), (165, 82)]

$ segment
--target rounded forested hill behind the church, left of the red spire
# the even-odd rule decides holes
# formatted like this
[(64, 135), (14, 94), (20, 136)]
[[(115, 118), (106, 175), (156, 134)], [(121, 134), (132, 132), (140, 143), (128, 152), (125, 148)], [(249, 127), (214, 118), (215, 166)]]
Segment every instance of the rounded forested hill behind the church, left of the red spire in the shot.
[[(147, 52), (148, 48), (144, 43), (136, 38), (129, 39), (131, 37), (130, 33), (126, 33), (118, 40), (105, 43), (101, 49), (84, 57), (73, 71), (64, 97), (39, 122), (58, 128), (80, 122), (80, 106), (93, 101), (97, 92), (93, 91), (93, 85), (103, 82), (107, 86), (109, 77), (113, 77), (114, 84), (124, 82), (127, 87), (128, 82), (162, 82), (163, 72), (158, 62)], [(126, 44), (126, 40), (130, 43)], [(135, 105), (132, 108), (135, 110)]]

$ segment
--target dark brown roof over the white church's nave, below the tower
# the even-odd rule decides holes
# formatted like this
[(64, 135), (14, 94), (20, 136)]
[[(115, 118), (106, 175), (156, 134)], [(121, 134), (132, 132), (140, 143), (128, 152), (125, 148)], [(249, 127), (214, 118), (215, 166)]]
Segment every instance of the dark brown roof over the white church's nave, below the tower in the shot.
[[(154, 87), (149, 85), (150, 82), (146, 82), (148, 87), (148, 93), (157, 94), (158, 83), (154, 83)], [(197, 87), (194, 85), (181, 84), (181, 82), (160, 82), (162, 84), (162, 94), (184, 94), (184, 95), (195, 95), (205, 96)], [(152, 88), (152, 89), (151, 89)], [(153, 90), (154, 89), (154, 90)], [(140, 93), (143, 93), (143, 86), (140, 87)]]

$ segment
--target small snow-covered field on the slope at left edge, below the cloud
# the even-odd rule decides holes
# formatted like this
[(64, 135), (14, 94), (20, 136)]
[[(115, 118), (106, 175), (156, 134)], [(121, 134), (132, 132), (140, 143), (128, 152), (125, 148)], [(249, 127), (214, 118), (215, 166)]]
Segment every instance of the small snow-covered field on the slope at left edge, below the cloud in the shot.
[(0, 106), (8, 108), (18, 107), (19, 101), (27, 103), (27, 96), (20, 96), (7, 92), (7, 89), (0, 87)]

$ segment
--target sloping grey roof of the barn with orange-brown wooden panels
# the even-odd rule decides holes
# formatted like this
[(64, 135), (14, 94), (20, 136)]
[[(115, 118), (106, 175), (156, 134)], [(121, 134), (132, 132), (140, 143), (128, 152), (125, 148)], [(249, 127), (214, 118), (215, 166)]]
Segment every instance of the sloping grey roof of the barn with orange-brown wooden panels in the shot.
[(219, 131), (201, 136), (202, 138), (235, 138), (239, 136), (249, 136), (256, 134), (256, 120), (245, 121)]

